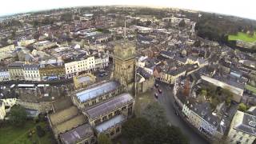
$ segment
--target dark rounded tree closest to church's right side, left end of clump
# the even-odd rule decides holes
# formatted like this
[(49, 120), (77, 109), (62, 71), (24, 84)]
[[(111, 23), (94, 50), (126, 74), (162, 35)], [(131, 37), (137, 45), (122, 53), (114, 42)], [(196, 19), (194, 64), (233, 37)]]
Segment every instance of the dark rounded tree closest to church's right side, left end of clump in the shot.
[(131, 118), (122, 125), (122, 134), (129, 140), (141, 138), (149, 130), (150, 122), (146, 118)]

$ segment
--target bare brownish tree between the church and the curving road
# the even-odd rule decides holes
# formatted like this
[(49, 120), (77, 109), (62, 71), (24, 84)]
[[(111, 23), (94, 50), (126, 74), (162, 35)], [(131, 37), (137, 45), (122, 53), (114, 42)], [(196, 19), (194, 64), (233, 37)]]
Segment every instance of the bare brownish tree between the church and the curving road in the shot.
[(154, 102), (142, 112), (142, 117), (146, 118), (152, 126), (165, 126), (167, 123), (165, 110), (158, 102)]

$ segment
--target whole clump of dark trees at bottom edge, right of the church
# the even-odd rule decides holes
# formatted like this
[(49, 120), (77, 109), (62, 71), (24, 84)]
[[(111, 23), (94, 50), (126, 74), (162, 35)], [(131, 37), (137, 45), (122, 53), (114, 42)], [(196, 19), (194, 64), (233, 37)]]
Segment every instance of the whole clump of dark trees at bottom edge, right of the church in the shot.
[(146, 118), (132, 118), (122, 125), (122, 134), (134, 144), (186, 144), (188, 139), (181, 130), (167, 124), (151, 126)]

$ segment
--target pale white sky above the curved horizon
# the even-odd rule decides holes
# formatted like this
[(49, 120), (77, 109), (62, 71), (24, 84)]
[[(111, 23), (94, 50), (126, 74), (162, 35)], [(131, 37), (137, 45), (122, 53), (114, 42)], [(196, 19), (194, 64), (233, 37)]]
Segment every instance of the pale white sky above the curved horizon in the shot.
[(72, 6), (150, 6), (202, 10), (256, 20), (256, 0), (3, 0), (0, 16)]

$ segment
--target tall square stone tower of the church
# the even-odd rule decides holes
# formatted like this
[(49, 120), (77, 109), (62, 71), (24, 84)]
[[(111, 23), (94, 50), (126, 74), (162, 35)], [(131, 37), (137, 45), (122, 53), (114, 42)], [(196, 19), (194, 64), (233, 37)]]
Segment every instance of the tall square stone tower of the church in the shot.
[(114, 80), (134, 92), (135, 85), (135, 44), (134, 42), (117, 42), (114, 46)]

